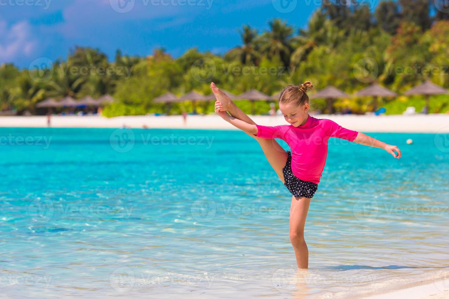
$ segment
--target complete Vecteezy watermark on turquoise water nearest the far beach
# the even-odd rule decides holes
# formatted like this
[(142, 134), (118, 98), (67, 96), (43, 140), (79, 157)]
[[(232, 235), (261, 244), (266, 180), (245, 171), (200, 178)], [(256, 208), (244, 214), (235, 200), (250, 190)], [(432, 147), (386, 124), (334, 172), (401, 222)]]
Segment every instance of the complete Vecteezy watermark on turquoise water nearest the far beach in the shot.
[(175, 134), (158, 136), (151, 135), (151, 133), (141, 133), (137, 136), (132, 129), (116, 129), (111, 133), (109, 137), (109, 143), (112, 149), (119, 153), (128, 153), (134, 148), (136, 141), (141, 142), (143, 145), (196, 145), (204, 146), (206, 149), (210, 149), (215, 136), (176, 136)]

